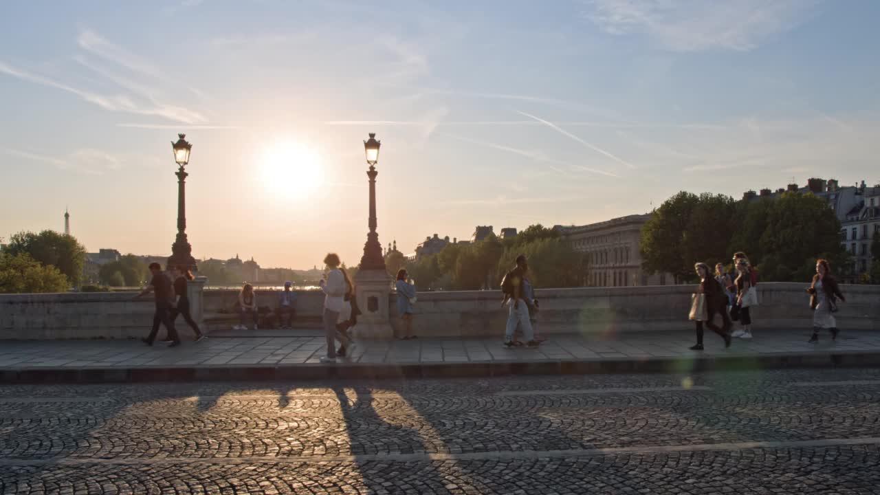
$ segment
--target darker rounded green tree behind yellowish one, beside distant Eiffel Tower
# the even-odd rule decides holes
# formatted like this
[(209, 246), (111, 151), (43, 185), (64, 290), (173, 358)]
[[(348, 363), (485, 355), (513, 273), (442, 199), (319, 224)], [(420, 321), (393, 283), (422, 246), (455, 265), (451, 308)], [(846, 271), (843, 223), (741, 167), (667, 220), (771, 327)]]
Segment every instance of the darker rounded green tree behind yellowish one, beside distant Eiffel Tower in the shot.
[(11, 255), (26, 253), (45, 266), (54, 266), (72, 286), (76, 287), (82, 280), (85, 247), (73, 236), (51, 230), (21, 232), (11, 237), (5, 250)]

